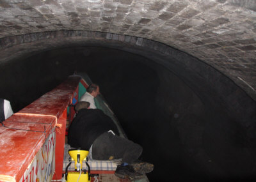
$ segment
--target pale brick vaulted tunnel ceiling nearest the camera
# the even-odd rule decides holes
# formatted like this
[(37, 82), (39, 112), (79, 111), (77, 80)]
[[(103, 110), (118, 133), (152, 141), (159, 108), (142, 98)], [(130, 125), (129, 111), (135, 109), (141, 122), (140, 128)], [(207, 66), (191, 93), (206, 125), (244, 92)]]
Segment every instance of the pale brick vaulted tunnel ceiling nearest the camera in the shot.
[(95, 31), (117, 40), (134, 36), (138, 46), (150, 40), (204, 61), (256, 100), (254, 0), (0, 0), (0, 9), (2, 61), (8, 61), (15, 45), (33, 42), (33, 33)]

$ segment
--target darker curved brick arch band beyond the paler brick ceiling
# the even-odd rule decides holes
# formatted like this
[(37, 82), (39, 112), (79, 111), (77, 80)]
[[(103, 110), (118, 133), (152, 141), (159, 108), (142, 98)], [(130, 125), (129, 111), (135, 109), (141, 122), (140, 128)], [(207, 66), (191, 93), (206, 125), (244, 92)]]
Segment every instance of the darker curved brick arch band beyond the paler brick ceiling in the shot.
[[(214, 103), (216, 100), (220, 103), (224, 102), (227, 108), (233, 109), (232, 112), (239, 114), (252, 111), (242, 108), (244, 105), (248, 105), (250, 108), (253, 101), (244, 103), (243, 98), (247, 98), (248, 95), (223, 73), (186, 52), (154, 40), (97, 31), (63, 30), (1, 38), (1, 46), (2, 64), (17, 57), (31, 56), (31, 54), (61, 47), (101, 46), (124, 50), (147, 57), (168, 68), (191, 87), (202, 100), (209, 98), (208, 95), (212, 95), (212, 100), (208, 99), (207, 102)], [(198, 80), (200, 84), (195, 80)], [(203, 89), (200, 89), (202, 84), (204, 84)], [(207, 87), (213, 87), (214, 91), (210, 93), (205, 90)], [(218, 96), (214, 97), (214, 95)], [(236, 100), (237, 95), (243, 96), (234, 107), (233, 101)], [(246, 120), (247, 118), (244, 118), (244, 121)]]

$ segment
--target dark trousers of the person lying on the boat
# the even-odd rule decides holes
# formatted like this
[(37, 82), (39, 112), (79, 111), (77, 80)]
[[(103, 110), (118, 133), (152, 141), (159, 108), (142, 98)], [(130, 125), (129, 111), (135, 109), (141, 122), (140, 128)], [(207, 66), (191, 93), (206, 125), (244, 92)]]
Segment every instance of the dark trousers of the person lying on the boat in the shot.
[(132, 163), (138, 160), (141, 153), (142, 147), (139, 144), (110, 132), (102, 133), (92, 146), (92, 158), (95, 160), (122, 158), (122, 162)]

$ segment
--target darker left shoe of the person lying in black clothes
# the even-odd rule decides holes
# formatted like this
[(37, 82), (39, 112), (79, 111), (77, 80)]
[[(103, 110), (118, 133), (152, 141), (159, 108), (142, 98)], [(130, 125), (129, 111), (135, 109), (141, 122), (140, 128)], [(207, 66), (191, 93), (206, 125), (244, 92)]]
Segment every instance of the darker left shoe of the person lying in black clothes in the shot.
[(118, 178), (140, 178), (141, 174), (134, 171), (131, 165), (118, 165), (116, 167), (115, 176)]

